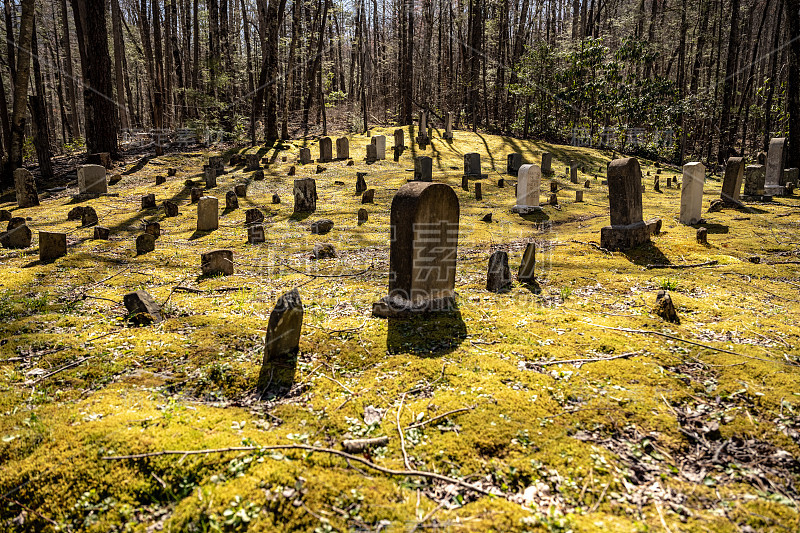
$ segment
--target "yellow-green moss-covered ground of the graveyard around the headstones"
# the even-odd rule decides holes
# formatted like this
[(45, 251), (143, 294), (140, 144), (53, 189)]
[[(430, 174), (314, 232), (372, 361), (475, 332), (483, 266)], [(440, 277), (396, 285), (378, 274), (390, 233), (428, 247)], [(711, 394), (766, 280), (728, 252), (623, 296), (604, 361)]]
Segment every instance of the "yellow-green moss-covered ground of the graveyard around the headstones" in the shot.
[[(386, 134), (391, 146), (393, 128)], [(409, 142), (406, 129), (406, 144)], [(76, 201), (74, 188), (43, 195), (30, 217), (33, 246), (0, 250), (0, 529), (4, 531), (797, 531), (800, 482), (800, 265), (797, 197), (707, 213), (721, 180), (706, 180), (702, 226), (678, 222), (677, 170), (641, 161), (645, 218), (661, 217), (652, 244), (599, 249), (608, 224), (608, 152), (512, 138), (438, 133), (399, 163), (367, 165), (369, 138), (350, 136), (355, 164), (297, 166), (303, 142), (262, 149), (263, 181), (227, 167), (208, 194), (220, 228), (195, 232), (187, 180), (202, 179), (209, 153), (168, 154), (135, 172), (122, 167), (115, 196)], [(314, 157), (316, 142), (309, 142)], [(246, 148), (230, 148), (226, 158)], [(249, 149), (253, 150), (253, 149)], [(461, 188), (463, 154), (481, 154), (483, 199)], [(510, 213), (506, 154), (538, 163), (554, 154), (559, 206)], [(389, 209), (416, 155), (433, 157), (434, 180), (461, 206), (458, 310), (387, 321), (371, 316), (386, 294)], [(286, 161), (284, 161), (286, 157)], [(579, 185), (564, 168), (579, 161)], [(175, 167), (175, 177), (155, 185)], [(661, 170), (662, 192), (652, 179)], [(359, 225), (356, 172), (374, 205)], [(317, 212), (292, 217), (292, 182), (314, 177)], [(500, 188), (497, 180), (504, 178)], [(583, 203), (574, 191), (584, 189)], [(343, 184), (337, 184), (343, 182)], [(240, 208), (225, 193), (247, 183)], [(180, 215), (140, 209), (155, 193)], [(277, 192), (282, 203), (272, 204)], [(97, 210), (111, 240), (67, 221)], [(244, 212), (266, 215), (266, 242), (247, 244)], [(493, 214), (491, 222), (481, 220)], [(331, 233), (311, 222), (330, 218)], [(145, 221), (158, 221), (155, 251), (136, 256)], [(699, 226), (697, 226), (699, 227)], [(37, 230), (68, 232), (69, 253), (38, 261)], [(494, 250), (512, 272), (537, 243), (537, 283), (485, 290)], [(330, 242), (336, 259), (309, 259)], [(234, 251), (235, 273), (201, 278), (200, 254)], [(751, 259), (758, 256), (759, 263)], [(653, 269), (650, 264), (704, 267)], [(177, 289), (176, 287), (184, 288)], [(269, 313), (299, 287), (305, 306), (296, 386), (258, 399), (254, 386)], [(124, 321), (125, 293), (164, 303), (163, 323)], [(653, 314), (669, 290), (681, 318)], [(613, 358), (606, 361), (595, 361)], [(554, 364), (558, 360), (590, 360)], [(433, 420), (450, 411), (458, 412)], [(365, 413), (381, 415), (372, 424)], [(398, 424), (399, 420), (399, 424)], [(407, 427), (400, 439), (398, 425)], [(327, 453), (260, 450), (388, 436), (365, 457), (383, 467), (442, 473), (485, 496), (413, 476), (388, 476)], [(253, 451), (107, 456), (255, 446)]]

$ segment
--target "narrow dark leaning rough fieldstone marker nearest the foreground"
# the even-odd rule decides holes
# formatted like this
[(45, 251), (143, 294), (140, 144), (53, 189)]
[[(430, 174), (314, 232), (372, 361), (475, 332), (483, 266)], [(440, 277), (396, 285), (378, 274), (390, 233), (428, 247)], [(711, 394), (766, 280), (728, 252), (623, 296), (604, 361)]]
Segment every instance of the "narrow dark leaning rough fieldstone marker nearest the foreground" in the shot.
[(264, 339), (264, 359), (256, 386), (260, 393), (291, 388), (300, 352), (303, 328), (303, 302), (292, 289), (280, 298), (269, 315)]

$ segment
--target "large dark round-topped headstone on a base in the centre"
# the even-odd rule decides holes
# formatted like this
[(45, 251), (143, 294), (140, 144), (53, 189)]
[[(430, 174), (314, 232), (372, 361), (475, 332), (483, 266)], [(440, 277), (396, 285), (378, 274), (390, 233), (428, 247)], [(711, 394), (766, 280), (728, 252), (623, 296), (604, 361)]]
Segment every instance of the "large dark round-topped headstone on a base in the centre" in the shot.
[(400, 187), (390, 215), (389, 294), (372, 305), (374, 316), (452, 308), (458, 219), (458, 197), (448, 185), (413, 181)]

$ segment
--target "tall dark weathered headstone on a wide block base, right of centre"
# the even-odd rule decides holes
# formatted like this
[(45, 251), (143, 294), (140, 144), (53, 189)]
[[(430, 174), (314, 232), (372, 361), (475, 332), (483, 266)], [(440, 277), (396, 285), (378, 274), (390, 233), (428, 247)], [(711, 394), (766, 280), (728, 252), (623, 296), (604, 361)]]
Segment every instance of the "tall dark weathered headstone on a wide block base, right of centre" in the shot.
[(608, 199), (611, 225), (600, 230), (600, 246), (626, 250), (649, 242), (650, 230), (642, 219), (642, 169), (635, 157), (609, 163)]

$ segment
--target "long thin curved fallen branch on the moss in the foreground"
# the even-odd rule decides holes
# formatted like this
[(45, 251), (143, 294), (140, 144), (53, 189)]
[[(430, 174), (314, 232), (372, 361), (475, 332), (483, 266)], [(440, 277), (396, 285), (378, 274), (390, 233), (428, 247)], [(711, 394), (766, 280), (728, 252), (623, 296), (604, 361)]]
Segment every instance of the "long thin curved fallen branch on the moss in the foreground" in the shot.
[(347, 452), (334, 450), (333, 448), (322, 448), (319, 446), (309, 446), (305, 444), (277, 444), (274, 446), (232, 446), (230, 448), (215, 448), (215, 449), (205, 449), (205, 450), (162, 450), (159, 452), (148, 452), (148, 453), (140, 453), (133, 455), (109, 455), (106, 457), (101, 457), (101, 459), (104, 461), (122, 461), (122, 460), (132, 460), (132, 459), (147, 459), (150, 457), (161, 457), (164, 455), (188, 456), (188, 455), (209, 455), (212, 453), (254, 452), (254, 451), (270, 451), (270, 450), (304, 450), (312, 453), (313, 452), (328, 453), (331, 455), (342, 457), (344, 459), (348, 459), (350, 461), (361, 463), (373, 470), (376, 470), (378, 472), (381, 472), (389, 476), (410, 476), (410, 477), (424, 477), (429, 479), (435, 479), (437, 481), (442, 481), (444, 483), (452, 483), (454, 485), (458, 485), (459, 487), (469, 489), (473, 492), (477, 492), (485, 496), (502, 496), (503, 498), (508, 498), (508, 495), (502, 492), (499, 491), (490, 492), (482, 487), (478, 487), (477, 485), (467, 483), (466, 481), (463, 481), (458, 478), (445, 476), (443, 474), (437, 474), (435, 472), (425, 472), (424, 470), (395, 470), (393, 468), (385, 468), (357, 455), (352, 455)]

